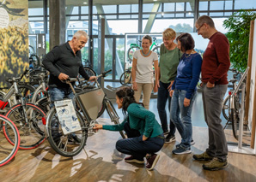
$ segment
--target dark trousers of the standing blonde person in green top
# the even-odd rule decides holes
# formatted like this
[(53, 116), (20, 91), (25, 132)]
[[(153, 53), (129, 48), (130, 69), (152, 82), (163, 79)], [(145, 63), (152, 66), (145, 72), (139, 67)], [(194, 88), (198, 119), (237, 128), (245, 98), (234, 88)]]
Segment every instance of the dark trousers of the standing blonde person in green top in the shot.
[[(160, 87), (158, 88), (158, 93), (157, 93), (157, 110), (158, 110), (159, 118), (161, 120), (162, 130), (163, 130), (163, 132), (167, 132), (168, 131), (168, 117), (167, 117), (165, 107), (166, 107), (166, 103), (168, 101), (168, 111), (170, 112), (171, 97), (170, 97), (170, 94), (168, 91), (168, 86), (170, 85), (170, 83), (165, 84), (165, 83), (162, 83), (161, 81), (159, 81), (159, 85), (160, 85)], [(176, 127), (175, 127), (174, 123), (172, 122), (172, 120), (170, 120), (169, 133), (171, 135), (174, 135), (175, 130), (176, 130)]]

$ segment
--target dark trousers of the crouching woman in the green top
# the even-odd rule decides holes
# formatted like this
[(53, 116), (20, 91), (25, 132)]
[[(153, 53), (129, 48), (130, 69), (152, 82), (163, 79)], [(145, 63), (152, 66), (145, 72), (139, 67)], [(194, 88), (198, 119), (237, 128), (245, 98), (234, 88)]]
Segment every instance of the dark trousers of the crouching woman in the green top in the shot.
[(146, 154), (153, 154), (162, 149), (164, 144), (163, 134), (161, 135), (162, 138), (148, 138), (146, 141), (143, 141), (143, 135), (137, 130), (132, 130), (128, 122), (125, 123), (124, 129), (128, 138), (117, 141), (116, 149), (119, 150), (119, 152), (131, 155), (135, 159), (143, 161), (143, 157), (146, 156)]

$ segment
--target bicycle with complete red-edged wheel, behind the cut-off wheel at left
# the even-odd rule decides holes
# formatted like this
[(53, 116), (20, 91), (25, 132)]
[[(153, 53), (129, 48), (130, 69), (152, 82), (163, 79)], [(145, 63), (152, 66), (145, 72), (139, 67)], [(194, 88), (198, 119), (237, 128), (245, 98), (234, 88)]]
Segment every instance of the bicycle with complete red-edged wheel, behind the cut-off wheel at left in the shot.
[[(28, 71), (28, 70), (27, 70)], [(44, 123), (46, 122), (46, 114), (37, 106), (32, 103), (27, 103), (19, 91), (17, 82), (21, 78), (9, 78), (8, 81), (11, 83), (9, 91), (3, 96), (1, 100), (0, 109), (3, 110), (8, 104), (9, 98), (13, 95), (17, 104), (12, 106), (6, 113), (8, 117), (15, 123), (21, 136), (20, 149), (30, 150), (38, 147), (46, 140), (44, 132)], [(15, 141), (11, 137), (11, 131), (5, 130), (6, 138), (10, 144), (15, 144)]]

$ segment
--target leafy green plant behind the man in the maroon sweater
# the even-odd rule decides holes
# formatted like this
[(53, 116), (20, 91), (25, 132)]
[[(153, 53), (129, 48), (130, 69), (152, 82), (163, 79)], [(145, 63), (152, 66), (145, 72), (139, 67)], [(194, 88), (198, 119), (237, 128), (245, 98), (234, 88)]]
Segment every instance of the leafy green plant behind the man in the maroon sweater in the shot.
[(241, 10), (223, 21), (223, 26), (229, 30), (226, 36), (230, 44), (230, 62), (240, 71), (247, 68), (250, 22), (255, 19), (256, 14), (252, 11)]

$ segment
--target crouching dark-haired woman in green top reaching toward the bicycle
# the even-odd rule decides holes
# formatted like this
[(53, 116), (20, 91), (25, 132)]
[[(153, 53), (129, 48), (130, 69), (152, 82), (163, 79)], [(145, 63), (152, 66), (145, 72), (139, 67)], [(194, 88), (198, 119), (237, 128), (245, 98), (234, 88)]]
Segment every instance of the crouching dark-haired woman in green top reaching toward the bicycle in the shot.
[(161, 150), (164, 144), (162, 127), (155, 120), (155, 114), (135, 101), (131, 88), (125, 87), (117, 91), (116, 103), (118, 108), (123, 110), (125, 120), (119, 125), (96, 124), (94, 129), (125, 130), (128, 138), (117, 141), (116, 149), (131, 155), (125, 158), (126, 162), (144, 163), (145, 157), (146, 168), (152, 170), (160, 157), (155, 152)]

